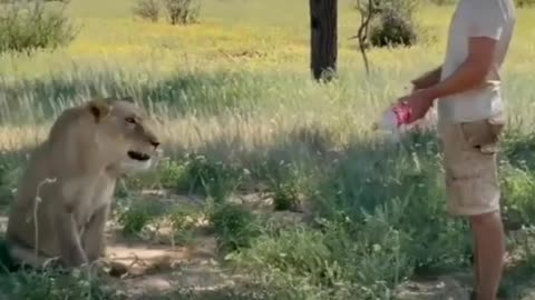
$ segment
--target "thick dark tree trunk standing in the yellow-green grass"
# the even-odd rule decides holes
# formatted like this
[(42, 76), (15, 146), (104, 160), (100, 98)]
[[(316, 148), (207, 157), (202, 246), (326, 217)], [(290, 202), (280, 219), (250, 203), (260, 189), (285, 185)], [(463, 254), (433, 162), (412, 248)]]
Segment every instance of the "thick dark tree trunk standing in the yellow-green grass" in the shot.
[(315, 80), (337, 72), (338, 0), (310, 0), (311, 68)]

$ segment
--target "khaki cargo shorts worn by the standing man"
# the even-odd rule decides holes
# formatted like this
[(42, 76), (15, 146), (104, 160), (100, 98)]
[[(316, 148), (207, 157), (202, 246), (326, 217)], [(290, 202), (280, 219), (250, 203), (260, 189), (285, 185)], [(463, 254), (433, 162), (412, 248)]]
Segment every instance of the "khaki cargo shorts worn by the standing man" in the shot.
[(497, 152), (504, 126), (504, 114), (438, 126), (451, 214), (476, 216), (499, 210)]

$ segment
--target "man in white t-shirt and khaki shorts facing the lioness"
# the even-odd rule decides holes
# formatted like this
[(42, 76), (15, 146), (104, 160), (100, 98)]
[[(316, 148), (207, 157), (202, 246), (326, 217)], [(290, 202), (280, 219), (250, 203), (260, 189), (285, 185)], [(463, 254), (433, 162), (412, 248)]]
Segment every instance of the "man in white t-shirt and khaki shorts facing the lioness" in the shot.
[(515, 18), (513, 0), (459, 0), (444, 64), (412, 80), (412, 93), (398, 99), (411, 107), (410, 122), (437, 99), (448, 208), (470, 221), (477, 300), (496, 299), (505, 256), (496, 162), (505, 123), (498, 70)]

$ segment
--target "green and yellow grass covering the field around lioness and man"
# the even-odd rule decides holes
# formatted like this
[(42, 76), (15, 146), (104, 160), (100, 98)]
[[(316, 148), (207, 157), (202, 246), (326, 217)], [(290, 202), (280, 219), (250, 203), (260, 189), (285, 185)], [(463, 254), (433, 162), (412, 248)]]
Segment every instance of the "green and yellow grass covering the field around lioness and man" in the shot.
[[(137, 192), (165, 188), (207, 197), (196, 213), (208, 217), (226, 264), (252, 284), (247, 293), (188, 298), (176, 291), (171, 299), (391, 299), (412, 276), (469, 267), (470, 234), (465, 220), (446, 212), (436, 138), (414, 134), (395, 144), (370, 130), (381, 110), (407, 92), (408, 79), (440, 63), (450, 7), (418, 13), (435, 39), (372, 50), (367, 78), (349, 40), (358, 14), (341, 1), (340, 77), (318, 84), (309, 71), (307, 1), (206, 0), (201, 22), (187, 27), (135, 20), (132, 4), (74, 0), (69, 14), (80, 33), (71, 44), (0, 54), (1, 203), (12, 198), (27, 148), (64, 108), (93, 96), (132, 94), (158, 116), (171, 160), (117, 192), (119, 224), (140, 234), (171, 218), (176, 238), (191, 240), (191, 226), (181, 219), (192, 211), (147, 208)], [(519, 10), (504, 70), (510, 123), (500, 166), (505, 218), (514, 229), (535, 218), (533, 12)], [(230, 202), (260, 186), (274, 197), (273, 213), (304, 201), (308, 222), (272, 227), (266, 216)], [(526, 274), (533, 256), (524, 258)], [(0, 291), (11, 299), (114, 299), (96, 282), (87, 284), (103, 298), (87, 298), (85, 281), (27, 272), (4, 279), (11, 283)], [(505, 289), (521, 294), (510, 282)], [(46, 298), (51, 293), (57, 298)]]

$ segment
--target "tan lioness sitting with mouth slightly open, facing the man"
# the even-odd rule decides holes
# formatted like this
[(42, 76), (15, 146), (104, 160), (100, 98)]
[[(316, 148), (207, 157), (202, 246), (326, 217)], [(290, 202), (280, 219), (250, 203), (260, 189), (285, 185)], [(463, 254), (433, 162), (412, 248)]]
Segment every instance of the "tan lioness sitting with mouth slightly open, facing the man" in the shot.
[(130, 98), (93, 100), (67, 109), (32, 153), (11, 207), (9, 256), (42, 267), (98, 260), (116, 180), (154, 166), (159, 140)]

